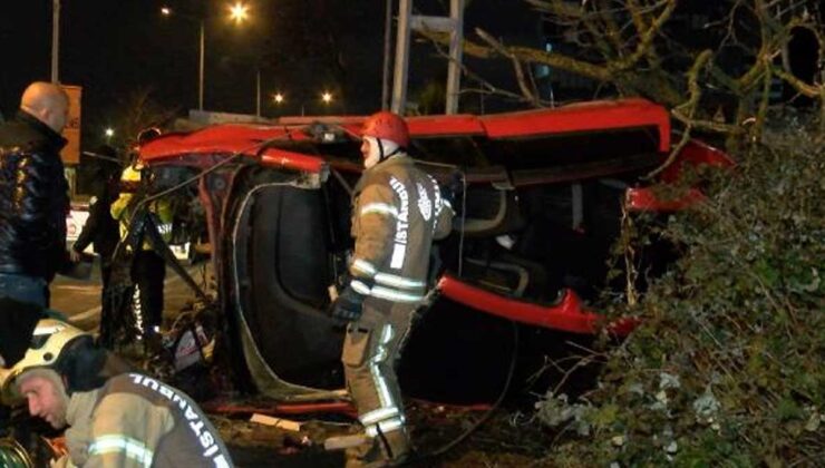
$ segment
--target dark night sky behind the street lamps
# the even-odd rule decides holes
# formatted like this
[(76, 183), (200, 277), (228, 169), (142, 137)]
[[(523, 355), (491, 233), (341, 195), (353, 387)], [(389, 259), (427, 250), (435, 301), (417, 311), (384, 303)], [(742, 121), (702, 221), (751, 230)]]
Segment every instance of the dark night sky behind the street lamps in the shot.
[[(13, 1), (0, 17), (0, 111), (9, 118), (22, 89), (50, 79), (51, 0)], [(205, 108), (254, 114), (255, 74), (262, 114), (366, 114), (380, 107), (384, 0), (250, 0), (252, 20), (235, 27), (226, 1), (62, 0), (59, 78), (84, 88), (82, 145), (136, 92), (185, 115), (197, 107), (197, 21), (165, 18), (162, 6), (206, 18)], [(483, 26), (499, 37), (538, 43), (535, 13), (518, 0), (468, 2), (465, 31)], [(447, 14), (448, 0), (416, 0), (424, 14)], [(395, 33), (392, 36), (395, 38)], [(524, 41), (522, 39), (522, 41)], [(395, 49), (394, 49), (395, 50)], [(414, 46), (409, 94), (446, 77), (446, 62), (429, 45)], [(505, 68), (506, 70), (506, 68)], [(509, 71), (506, 71), (507, 74)], [(319, 95), (334, 104), (324, 108)], [(284, 92), (275, 107), (266, 97)]]

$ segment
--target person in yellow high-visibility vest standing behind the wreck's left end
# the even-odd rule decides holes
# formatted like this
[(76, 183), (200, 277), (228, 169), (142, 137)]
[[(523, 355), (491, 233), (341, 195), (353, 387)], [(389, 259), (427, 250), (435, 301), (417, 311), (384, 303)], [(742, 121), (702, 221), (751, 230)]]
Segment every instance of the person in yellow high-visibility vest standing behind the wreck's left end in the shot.
[[(111, 217), (120, 224), (120, 242), (126, 253), (132, 255), (129, 273), (135, 285), (132, 304), (138, 338), (156, 334), (163, 323), (166, 264), (153, 248), (146, 230), (155, 226), (163, 241), (168, 242), (172, 238), (173, 220), (172, 205), (166, 198), (152, 201), (148, 206), (140, 205), (142, 197), (136, 195), (140, 189), (143, 173), (139, 162), (128, 165), (120, 176), (120, 195), (111, 204)], [(145, 207), (146, 212), (136, 214), (138, 207)], [(152, 223), (142, 220), (144, 213)], [(140, 227), (132, 228), (132, 223), (138, 223)]]

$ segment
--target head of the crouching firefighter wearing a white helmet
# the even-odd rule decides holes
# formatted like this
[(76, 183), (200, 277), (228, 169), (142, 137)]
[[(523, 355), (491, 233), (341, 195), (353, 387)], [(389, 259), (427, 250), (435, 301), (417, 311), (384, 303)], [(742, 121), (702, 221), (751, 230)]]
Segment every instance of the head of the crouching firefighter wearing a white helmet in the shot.
[(7, 403), (26, 400), (31, 416), (59, 429), (66, 426), (69, 396), (105, 382), (99, 378), (101, 358), (105, 360), (89, 333), (59, 320), (42, 319), (26, 355), (3, 377), (2, 398)]

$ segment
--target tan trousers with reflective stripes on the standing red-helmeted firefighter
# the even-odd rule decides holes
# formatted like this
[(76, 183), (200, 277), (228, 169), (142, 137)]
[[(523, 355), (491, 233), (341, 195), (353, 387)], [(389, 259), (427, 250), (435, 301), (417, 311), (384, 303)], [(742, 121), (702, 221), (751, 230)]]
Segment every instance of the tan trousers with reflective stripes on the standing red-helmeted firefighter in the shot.
[(409, 452), (404, 402), (396, 364), (406, 344), (417, 304), (391, 303), (368, 298), (363, 314), (347, 326), (343, 363), (347, 387), (355, 400), (358, 419), (372, 447), (361, 458), (367, 466), (376, 460), (398, 460)]

